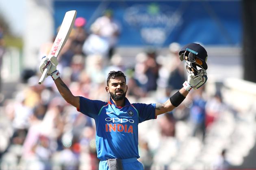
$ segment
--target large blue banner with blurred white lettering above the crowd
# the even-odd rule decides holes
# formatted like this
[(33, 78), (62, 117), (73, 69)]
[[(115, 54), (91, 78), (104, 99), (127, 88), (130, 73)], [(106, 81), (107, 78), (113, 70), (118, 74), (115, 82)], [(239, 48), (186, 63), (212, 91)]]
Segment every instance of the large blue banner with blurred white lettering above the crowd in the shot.
[(154, 45), (166, 47), (171, 42), (182, 45), (241, 46), (241, 1), (180, 0), (55, 0), (56, 28), (66, 11), (76, 10), (87, 19), (86, 28), (111, 9), (121, 26), (119, 46)]

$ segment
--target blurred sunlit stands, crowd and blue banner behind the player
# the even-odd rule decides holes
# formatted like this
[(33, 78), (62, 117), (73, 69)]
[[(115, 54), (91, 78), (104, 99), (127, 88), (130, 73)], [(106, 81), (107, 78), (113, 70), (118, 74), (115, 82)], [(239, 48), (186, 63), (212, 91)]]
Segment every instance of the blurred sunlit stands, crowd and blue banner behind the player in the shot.
[[(65, 12), (77, 19), (58, 58), (75, 96), (108, 101), (127, 75), (131, 103), (165, 102), (187, 79), (178, 51), (200, 43), (208, 81), (171, 113), (139, 124), (145, 170), (256, 169), (256, 2), (1, 0), (0, 169), (97, 170), (94, 120), (38, 85)], [(125, 141), (124, 141), (125, 142)]]

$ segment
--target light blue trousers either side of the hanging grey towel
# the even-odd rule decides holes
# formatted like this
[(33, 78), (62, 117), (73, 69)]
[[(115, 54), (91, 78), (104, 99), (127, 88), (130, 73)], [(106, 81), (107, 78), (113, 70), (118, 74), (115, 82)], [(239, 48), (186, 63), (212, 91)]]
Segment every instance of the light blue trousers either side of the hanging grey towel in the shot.
[[(124, 170), (143, 170), (143, 165), (136, 157), (130, 159), (122, 159)], [(109, 170), (107, 161), (100, 161), (99, 170)]]

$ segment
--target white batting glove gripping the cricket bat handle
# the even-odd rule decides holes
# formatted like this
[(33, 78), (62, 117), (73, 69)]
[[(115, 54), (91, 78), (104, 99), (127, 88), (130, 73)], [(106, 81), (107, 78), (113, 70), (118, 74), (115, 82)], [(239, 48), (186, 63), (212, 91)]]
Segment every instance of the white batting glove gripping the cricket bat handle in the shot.
[[(58, 65), (58, 62), (55, 62), (55, 64)], [(57, 67), (56, 67), (57, 65), (55, 65), (55, 64), (52, 63), (48, 57), (43, 56), (40, 66), (39, 66), (39, 70), (40, 70), (41, 74), (43, 74), (43, 71), (45, 70), (45, 68), (50, 65), (50, 69), (48, 70), (46, 77), (51, 76), (53, 80), (57, 79), (60, 76), (60, 73), (59, 73), (59, 70), (57, 70)]]

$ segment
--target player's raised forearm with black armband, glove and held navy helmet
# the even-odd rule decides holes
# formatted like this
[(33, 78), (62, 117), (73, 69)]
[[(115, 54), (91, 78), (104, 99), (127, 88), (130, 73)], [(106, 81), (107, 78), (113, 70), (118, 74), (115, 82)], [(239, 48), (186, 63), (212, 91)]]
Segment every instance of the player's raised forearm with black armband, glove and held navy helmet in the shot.
[(192, 88), (198, 89), (207, 81), (206, 61), (208, 55), (204, 47), (197, 43), (189, 43), (182, 47), (178, 54), (180, 61), (186, 62), (186, 69), (189, 72), (188, 79), (183, 83), (182, 89), (170, 97), (170, 100), (163, 104), (156, 104), (156, 116), (178, 107)]

